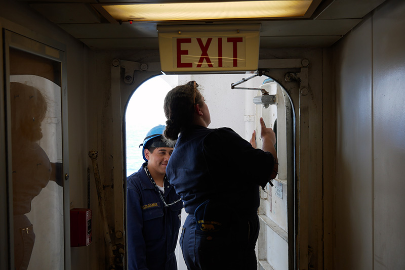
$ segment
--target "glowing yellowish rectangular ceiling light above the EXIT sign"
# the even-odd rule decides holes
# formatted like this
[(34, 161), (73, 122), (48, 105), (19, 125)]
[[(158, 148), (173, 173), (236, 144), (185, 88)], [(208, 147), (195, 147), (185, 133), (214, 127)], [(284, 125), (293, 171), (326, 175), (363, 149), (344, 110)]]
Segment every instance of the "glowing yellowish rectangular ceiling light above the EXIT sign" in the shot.
[(194, 21), (302, 17), (312, 0), (102, 5), (116, 21)]

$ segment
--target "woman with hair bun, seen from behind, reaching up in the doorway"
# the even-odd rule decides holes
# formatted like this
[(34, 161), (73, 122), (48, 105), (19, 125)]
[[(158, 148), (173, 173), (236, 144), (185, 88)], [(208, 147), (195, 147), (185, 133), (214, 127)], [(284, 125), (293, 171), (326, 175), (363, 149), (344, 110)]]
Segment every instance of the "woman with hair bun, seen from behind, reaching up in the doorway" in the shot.
[[(211, 116), (195, 81), (165, 98), (165, 137), (176, 140), (166, 168), (189, 214), (180, 247), (189, 270), (257, 269), (259, 186), (277, 175), (275, 134), (260, 119), (262, 149), (230, 128), (209, 129)], [(180, 133), (180, 135), (179, 135)]]

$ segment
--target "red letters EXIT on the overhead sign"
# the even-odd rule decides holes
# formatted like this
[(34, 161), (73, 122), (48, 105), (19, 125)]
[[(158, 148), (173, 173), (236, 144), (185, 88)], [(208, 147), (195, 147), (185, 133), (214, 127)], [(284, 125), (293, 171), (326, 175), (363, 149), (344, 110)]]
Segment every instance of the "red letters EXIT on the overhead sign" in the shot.
[[(212, 59), (217, 60), (218, 67), (223, 67), (223, 59), (224, 59), (223, 52), (227, 52), (227, 50), (229, 51), (230, 49), (229, 45), (232, 48), (231, 49), (232, 53), (231, 55), (227, 55), (226, 59), (231, 59), (232, 66), (237, 67), (238, 58), (240, 59), (240, 56), (238, 57), (238, 43), (243, 42), (244, 39), (242, 37), (228, 37), (225, 39), (226, 40), (225, 44), (223, 44), (222, 37), (215, 38), (216, 40), (215, 39), (214, 40), (216, 42), (214, 43), (213, 39), (214, 39), (213, 37), (208, 37), (204, 43), (203, 38), (200, 37), (177, 38), (176, 39), (177, 68), (192, 68), (193, 63), (195, 64), (195, 67), (201, 68), (204, 64), (204, 61), (206, 62), (208, 67), (214, 67)], [(195, 43), (198, 44), (198, 47), (195, 46)], [(212, 46), (212, 44), (215, 43), (217, 43), (216, 46)], [(228, 48), (227, 50), (224, 51), (225, 46), (228, 46)], [(210, 47), (212, 48), (212, 50), (209, 53)], [(189, 52), (190, 50), (192, 50), (193, 53), (190, 53)], [(195, 61), (197, 58), (198, 61)], [(191, 61), (193, 59), (195, 60)]]

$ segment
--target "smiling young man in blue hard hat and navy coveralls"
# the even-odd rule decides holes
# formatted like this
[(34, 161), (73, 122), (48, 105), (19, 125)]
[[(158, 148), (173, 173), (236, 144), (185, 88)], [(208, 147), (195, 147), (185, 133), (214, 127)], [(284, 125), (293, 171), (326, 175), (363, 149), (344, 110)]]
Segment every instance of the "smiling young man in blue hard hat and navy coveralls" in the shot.
[(162, 139), (164, 125), (146, 135), (145, 163), (127, 179), (128, 270), (176, 270), (175, 248), (183, 202), (166, 177), (173, 147)]

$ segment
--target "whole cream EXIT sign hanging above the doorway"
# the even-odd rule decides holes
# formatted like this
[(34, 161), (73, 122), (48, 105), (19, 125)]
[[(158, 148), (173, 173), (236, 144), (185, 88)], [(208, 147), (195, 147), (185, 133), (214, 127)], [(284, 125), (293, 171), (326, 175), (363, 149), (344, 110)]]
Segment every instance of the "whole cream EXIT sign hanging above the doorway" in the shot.
[(158, 26), (161, 70), (166, 73), (254, 71), (260, 25)]

